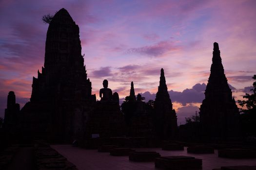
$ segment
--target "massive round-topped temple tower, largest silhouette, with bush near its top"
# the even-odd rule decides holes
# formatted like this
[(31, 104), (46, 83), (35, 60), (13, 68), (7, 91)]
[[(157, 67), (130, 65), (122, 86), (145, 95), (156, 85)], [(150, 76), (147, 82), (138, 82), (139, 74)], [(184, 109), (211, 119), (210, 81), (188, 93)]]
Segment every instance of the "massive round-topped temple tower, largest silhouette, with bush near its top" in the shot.
[(96, 103), (81, 55), (79, 26), (64, 8), (49, 23), (44, 67), (33, 77), (30, 102), (22, 108), (24, 134), (53, 142), (83, 136)]

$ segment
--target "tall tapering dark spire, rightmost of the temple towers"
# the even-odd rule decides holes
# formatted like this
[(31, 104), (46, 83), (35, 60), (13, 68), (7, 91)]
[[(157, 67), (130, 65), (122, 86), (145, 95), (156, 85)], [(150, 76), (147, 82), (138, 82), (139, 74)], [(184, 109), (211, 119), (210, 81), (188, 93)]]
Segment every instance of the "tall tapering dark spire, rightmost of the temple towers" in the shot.
[[(218, 43), (214, 43), (211, 73), (200, 106), (200, 123), (204, 136), (226, 138), (237, 134), (238, 108), (228, 85)], [(233, 131), (233, 132), (232, 132)]]

